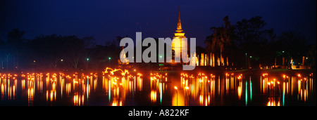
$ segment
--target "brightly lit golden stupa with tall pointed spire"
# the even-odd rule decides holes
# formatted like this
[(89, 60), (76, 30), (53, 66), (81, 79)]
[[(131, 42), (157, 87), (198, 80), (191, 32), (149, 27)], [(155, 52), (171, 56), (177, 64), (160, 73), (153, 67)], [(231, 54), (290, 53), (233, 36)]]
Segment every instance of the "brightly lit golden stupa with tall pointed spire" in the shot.
[(186, 38), (184, 35), (185, 33), (182, 32), (182, 24), (180, 23), (180, 8), (178, 8), (178, 27), (176, 29), (174, 39), (179, 40), (173, 41), (172, 50), (175, 51), (174, 55), (179, 55), (180, 58), (182, 58), (182, 54), (187, 55), (187, 51), (182, 53), (182, 49), (187, 47), (187, 41), (185, 41), (185, 39), (182, 40), (182, 38)]

